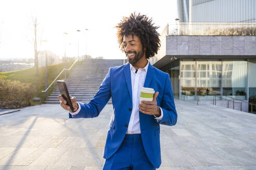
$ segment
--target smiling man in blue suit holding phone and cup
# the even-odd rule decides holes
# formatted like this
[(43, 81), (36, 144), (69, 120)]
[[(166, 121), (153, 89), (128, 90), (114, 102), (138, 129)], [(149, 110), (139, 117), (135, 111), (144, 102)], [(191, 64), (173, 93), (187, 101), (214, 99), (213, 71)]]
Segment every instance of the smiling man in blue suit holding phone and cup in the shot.
[[(158, 27), (145, 15), (132, 13), (117, 25), (118, 41), (129, 63), (112, 67), (89, 103), (71, 97), (70, 118), (97, 117), (112, 97), (113, 115), (104, 150), (103, 169), (156, 169), (161, 164), (159, 124), (175, 125), (177, 114), (169, 74), (147, 59), (160, 46)], [(139, 103), (140, 89), (156, 91), (153, 101)], [(60, 105), (70, 111), (66, 101)]]

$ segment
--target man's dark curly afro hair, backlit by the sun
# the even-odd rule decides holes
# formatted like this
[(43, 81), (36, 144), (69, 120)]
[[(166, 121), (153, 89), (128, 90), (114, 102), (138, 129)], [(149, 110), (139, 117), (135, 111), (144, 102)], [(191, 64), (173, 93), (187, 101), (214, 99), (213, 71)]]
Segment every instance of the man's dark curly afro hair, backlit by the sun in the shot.
[(136, 13), (131, 13), (130, 17), (123, 17), (123, 21), (118, 23), (117, 27), (117, 37), (119, 47), (124, 52), (123, 37), (128, 35), (136, 35), (142, 42), (142, 47), (146, 48), (146, 58), (157, 54), (160, 47), (159, 33), (157, 29), (159, 26), (153, 26), (152, 18), (149, 19), (145, 15), (136, 15)]

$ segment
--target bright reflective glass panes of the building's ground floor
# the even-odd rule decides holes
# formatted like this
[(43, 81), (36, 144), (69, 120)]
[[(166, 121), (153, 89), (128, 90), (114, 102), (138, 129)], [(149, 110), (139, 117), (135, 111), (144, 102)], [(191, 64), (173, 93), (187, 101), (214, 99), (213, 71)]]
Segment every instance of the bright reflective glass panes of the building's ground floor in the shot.
[[(213, 95), (222, 95), (247, 100), (247, 64), (247, 61), (180, 61), (180, 99), (195, 100), (199, 95), (200, 100), (212, 100)], [(253, 68), (255, 64), (251, 63)], [(256, 87), (255, 82), (251, 84)], [(251, 91), (255, 91), (256, 95), (254, 87), (251, 87)], [(220, 100), (220, 97), (216, 100)]]

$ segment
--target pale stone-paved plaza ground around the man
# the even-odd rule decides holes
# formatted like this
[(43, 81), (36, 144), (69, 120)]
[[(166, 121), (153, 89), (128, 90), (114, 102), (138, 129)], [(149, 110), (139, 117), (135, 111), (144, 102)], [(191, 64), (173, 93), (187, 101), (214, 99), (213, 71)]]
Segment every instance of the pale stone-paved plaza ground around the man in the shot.
[[(256, 169), (256, 115), (175, 101), (178, 122), (161, 125), (159, 169)], [(0, 169), (102, 169), (112, 105), (68, 119), (59, 105), (0, 116)]]

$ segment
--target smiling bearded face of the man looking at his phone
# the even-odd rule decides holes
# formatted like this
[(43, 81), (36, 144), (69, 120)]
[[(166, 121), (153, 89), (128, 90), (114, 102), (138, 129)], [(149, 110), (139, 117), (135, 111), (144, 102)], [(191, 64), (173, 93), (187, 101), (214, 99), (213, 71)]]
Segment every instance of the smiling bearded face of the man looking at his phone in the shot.
[(142, 48), (142, 43), (138, 36), (128, 35), (123, 37), (124, 52), (130, 64), (135, 65), (140, 60), (147, 60), (145, 49)]

